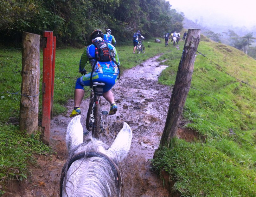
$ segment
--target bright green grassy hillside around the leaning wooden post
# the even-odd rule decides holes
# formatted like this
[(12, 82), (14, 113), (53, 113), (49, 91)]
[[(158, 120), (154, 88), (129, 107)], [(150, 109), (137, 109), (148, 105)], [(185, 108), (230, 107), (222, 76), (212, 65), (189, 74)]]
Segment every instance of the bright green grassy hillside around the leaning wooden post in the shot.
[[(182, 114), (200, 137), (173, 139), (153, 165), (170, 173), (182, 196), (255, 196), (256, 61), (201, 38)], [(170, 66), (159, 81), (173, 86), (179, 60), (165, 58)]]

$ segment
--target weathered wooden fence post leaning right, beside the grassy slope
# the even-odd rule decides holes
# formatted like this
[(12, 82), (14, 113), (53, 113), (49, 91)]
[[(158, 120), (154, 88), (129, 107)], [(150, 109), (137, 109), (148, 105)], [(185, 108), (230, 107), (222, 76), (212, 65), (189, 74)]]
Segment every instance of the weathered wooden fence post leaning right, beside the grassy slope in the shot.
[(188, 30), (160, 146), (164, 146), (165, 142), (169, 141), (177, 133), (180, 116), (191, 84), (195, 63), (195, 52), (200, 41), (200, 32), (200, 29)]

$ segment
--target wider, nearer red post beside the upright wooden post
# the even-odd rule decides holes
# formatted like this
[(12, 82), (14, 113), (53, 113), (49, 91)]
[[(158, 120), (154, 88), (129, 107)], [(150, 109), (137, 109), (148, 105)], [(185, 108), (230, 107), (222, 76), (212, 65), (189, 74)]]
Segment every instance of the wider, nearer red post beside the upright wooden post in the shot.
[(50, 142), (51, 94), (52, 94), (52, 62), (53, 62), (53, 32), (44, 31), (47, 38), (46, 48), (43, 48), (43, 81), (42, 81), (42, 141)]

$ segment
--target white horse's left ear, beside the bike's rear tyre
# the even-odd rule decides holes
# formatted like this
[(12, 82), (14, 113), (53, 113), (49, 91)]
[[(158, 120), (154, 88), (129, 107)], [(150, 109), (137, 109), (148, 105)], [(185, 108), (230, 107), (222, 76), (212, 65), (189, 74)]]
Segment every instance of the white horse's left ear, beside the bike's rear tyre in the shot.
[(66, 144), (68, 151), (71, 146), (76, 146), (83, 142), (83, 127), (80, 119), (81, 116), (75, 116), (67, 126)]

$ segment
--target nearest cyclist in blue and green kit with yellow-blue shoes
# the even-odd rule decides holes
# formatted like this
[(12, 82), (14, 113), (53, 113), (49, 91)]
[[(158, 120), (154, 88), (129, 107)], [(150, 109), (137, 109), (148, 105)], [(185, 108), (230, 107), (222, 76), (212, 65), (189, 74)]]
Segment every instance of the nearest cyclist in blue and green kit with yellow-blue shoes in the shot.
[[(81, 113), (80, 104), (84, 98), (84, 86), (91, 85), (91, 73), (86, 74), (84, 67), (89, 60), (92, 65), (92, 82), (104, 82), (106, 85), (103, 87), (103, 97), (110, 103), (109, 115), (113, 115), (117, 112), (117, 105), (115, 104), (114, 95), (111, 88), (115, 85), (119, 74), (119, 58), (116, 48), (103, 41), (104, 35), (101, 30), (97, 29), (93, 31), (90, 37), (93, 44), (87, 46), (84, 53), (81, 56), (79, 71), (83, 75), (77, 79), (74, 92), (74, 109), (69, 117), (74, 117)], [(95, 45), (101, 45), (109, 48), (110, 56), (109, 61), (100, 62), (96, 58)], [(85, 75), (84, 75), (85, 74)]]

